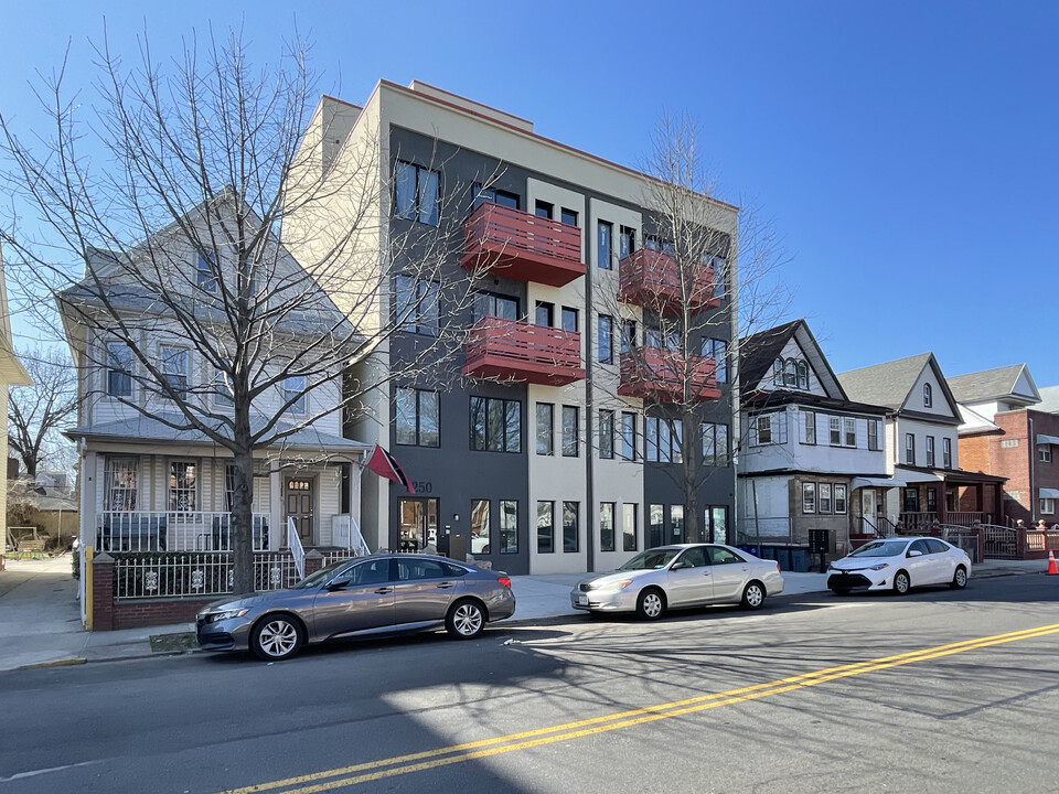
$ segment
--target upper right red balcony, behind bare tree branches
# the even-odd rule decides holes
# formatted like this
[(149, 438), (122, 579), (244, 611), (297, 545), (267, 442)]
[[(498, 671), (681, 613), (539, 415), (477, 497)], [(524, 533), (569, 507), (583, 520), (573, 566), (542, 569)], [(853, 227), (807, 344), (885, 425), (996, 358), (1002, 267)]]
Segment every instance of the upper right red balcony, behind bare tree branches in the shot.
[[(685, 303), (681, 268), (672, 254), (641, 248), (618, 262), (618, 300), (659, 314), (681, 312)], [(686, 303), (693, 312), (720, 305), (714, 297), (713, 265), (696, 267), (688, 287)]]

